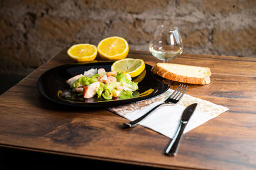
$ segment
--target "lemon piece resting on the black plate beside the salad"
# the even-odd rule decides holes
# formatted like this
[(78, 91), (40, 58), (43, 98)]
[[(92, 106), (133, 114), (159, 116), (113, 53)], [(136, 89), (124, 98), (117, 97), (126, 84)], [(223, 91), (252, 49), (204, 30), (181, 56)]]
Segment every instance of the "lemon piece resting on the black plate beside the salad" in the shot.
[(112, 72), (129, 73), (131, 77), (140, 75), (145, 69), (145, 63), (142, 59), (125, 58), (115, 61), (111, 66)]

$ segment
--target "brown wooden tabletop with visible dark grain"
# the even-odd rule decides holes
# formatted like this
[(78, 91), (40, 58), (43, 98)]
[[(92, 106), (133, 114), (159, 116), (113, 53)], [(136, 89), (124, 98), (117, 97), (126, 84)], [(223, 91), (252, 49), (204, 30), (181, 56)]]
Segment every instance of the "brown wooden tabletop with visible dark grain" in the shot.
[[(157, 62), (148, 52), (132, 51), (128, 57), (148, 65)], [(256, 58), (182, 54), (172, 60), (211, 68), (211, 84), (191, 85), (186, 94), (229, 108), (184, 134), (176, 157), (163, 154), (170, 140), (164, 135), (141, 126), (120, 128), (127, 120), (106, 109), (63, 107), (40, 96), (38, 77), (71, 62), (65, 49), (0, 96), (0, 146), (5, 153), (18, 150), (17, 159), (26, 151), (63, 155), (67, 162), (79, 158), (113, 162), (114, 167), (256, 169)]]

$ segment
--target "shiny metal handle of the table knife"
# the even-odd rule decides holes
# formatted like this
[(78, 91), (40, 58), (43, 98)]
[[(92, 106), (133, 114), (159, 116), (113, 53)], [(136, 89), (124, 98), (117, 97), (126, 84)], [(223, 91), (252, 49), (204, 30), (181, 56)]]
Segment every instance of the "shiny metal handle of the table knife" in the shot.
[(186, 122), (180, 121), (180, 125), (179, 125), (179, 128), (177, 129), (177, 132), (175, 133), (173, 139), (170, 141), (170, 144), (168, 144), (166, 148), (166, 151), (165, 151), (166, 155), (174, 156), (177, 153), (180, 140), (182, 138), (182, 135), (187, 123), (188, 123), (187, 121)]

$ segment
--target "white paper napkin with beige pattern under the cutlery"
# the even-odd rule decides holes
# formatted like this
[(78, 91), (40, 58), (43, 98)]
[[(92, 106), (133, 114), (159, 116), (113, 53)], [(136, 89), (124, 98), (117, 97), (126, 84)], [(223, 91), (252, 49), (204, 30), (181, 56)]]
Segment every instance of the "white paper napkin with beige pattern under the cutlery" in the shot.
[[(110, 107), (109, 111), (115, 112), (116, 114), (133, 121), (150, 111), (150, 109), (157, 104), (162, 103), (166, 98), (170, 97), (172, 92), (173, 89), (168, 89), (166, 93), (163, 93), (163, 95), (158, 97), (133, 104)], [(188, 105), (193, 103), (198, 103), (198, 105), (184, 130), (185, 133), (228, 110), (227, 107), (216, 105), (206, 100), (185, 94), (179, 104), (173, 106), (163, 105), (152, 112), (150, 116), (145, 118), (145, 120), (141, 121), (139, 124), (159, 132), (160, 134), (166, 135), (167, 137), (173, 138), (179, 127), (182, 112)]]

